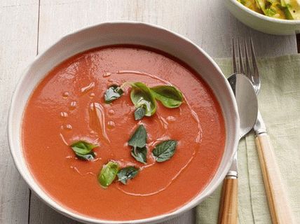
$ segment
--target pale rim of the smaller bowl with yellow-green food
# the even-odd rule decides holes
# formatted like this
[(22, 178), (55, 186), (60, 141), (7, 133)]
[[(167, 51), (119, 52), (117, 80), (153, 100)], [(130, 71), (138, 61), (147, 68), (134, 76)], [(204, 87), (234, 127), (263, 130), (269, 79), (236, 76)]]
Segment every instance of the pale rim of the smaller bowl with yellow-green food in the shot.
[(250, 8), (247, 8), (246, 6), (244, 6), (242, 3), (240, 3), (237, 0), (229, 0), (229, 1), (231, 1), (236, 6), (238, 6), (238, 8), (245, 10), (247, 13), (250, 13), (251, 15), (254, 15), (255, 17), (257, 17), (259, 19), (267, 20), (268, 22), (275, 22), (278, 24), (300, 25), (300, 20), (282, 20), (282, 19), (278, 19), (278, 18), (272, 18), (267, 15), (257, 13), (256, 11), (251, 10)]

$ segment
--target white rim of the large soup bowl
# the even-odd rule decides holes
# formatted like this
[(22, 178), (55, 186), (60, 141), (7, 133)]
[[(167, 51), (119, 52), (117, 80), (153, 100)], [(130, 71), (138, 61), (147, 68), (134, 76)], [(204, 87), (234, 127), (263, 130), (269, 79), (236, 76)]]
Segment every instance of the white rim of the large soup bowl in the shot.
[[(231, 166), (231, 162), (233, 160), (233, 155), (237, 151), (238, 141), (240, 140), (240, 117), (238, 115), (238, 106), (237, 106), (237, 103), (236, 103), (236, 99), (235, 99), (235, 96), (234, 96), (232, 91), (229, 91), (229, 96), (230, 96), (231, 99), (233, 99), (232, 100), (232, 102), (233, 102), (232, 106), (233, 106), (233, 113), (234, 114), (231, 114), (231, 116), (233, 116), (234, 120), (236, 120), (235, 125), (234, 125), (236, 133), (232, 134), (234, 136), (233, 137), (233, 153), (232, 153), (229, 161), (226, 162), (225, 169), (220, 172), (219, 179), (217, 179), (214, 186), (211, 186), (211, 188), (209, 190), (207, 190), (206, 195), (202, 199), (195, 200), (195, 198), (193, 198), (191, 201), (186, 202), (186, 204), (182, 204), (182, 206), (178, 207), (174, 211), (171, 211), (167, 214), (161, 214), (161, 215), (158, 215), (158, 216), (151, 216), (149, 218), (136, 219), (136, 220), (132, 220), (132, 221), (109, 221), (109, 220), (104, 220), (104, 219), (100, 219), (100, 218), (85, 216), (83, 214), (80, 214), (79, 212), (72, 211), (71, 209), (69, 209), (69, 207), (66, 207), (66, 206), (60, 204), (60, 202), (55, 200), (55, 198), (50, 197), (50, 195), (48, 195), (46, 193), (46, 191), (43, 190), (43, 188), (41, 186), (39, 186), (39, 183), (37, 181), (34, 181), (34, 183), (38, 186), (38, 188), (41, 188), (41, 190), (43, 191), (42, 195), (37, 193), (37, 190), (39, 190), (39, 189), (36, 189), (36, 187), (34, 186), (34, 183), (31, 183), (29, 177), (27, 177), (26, 172), (24, 170), (22, 170), (22, 166), (18, 165), (18, 162), (17, 162), (18, 155), (15, 153), (15, 147), (13, 146), (13, 141), (15, 141), (15, 139), (13, 137), (13, 111), (15, 111), (15, 107), (17, 106), (17, 104), (16, 104), (16, 102), (18, 100), (17, 97), (18, 97), (18, 93), (21, 91), (22, 83), (24, 82), (25, 78), (27, 77), (27, 73), (28, 73), (30, 67), (32, 67), (34, 65), (34, 62), (36, 62), (38, 59), (43, 57), (46, 54), (46, 52), (48, 52), (49, 50), (54, 48), (55, 45), (57, 45), (57, 43), (60, 43), (61, 41), (64, 41), (64, 39), (69, 38), (70, 36), (76, 35), (80, 32), (86, 31), (88, 29), (93, 29), (93, 28), (96, 28), (96, 27), (101, 27), (101, 26), (106, 26), (106, 25), (116, 25), (116, 24), (121, 24), (121, 25), (143, 25), (143, 26), (147, 26), (147, 27), (152, 27), (152, 28), (167, 32), (169, 34), (172, 34), (173, 36), (177, 36), (178, 38), (182, 39), (183, 41), (191, 44), (194, 48), (199, 50), (210, 61), (210, 63), (212, 63), (214, 68), (217, 69), (218, 73), (224, 78), (225, 85), (228, 87), (229, 90), (231, 90), (231, 86), (229, 85), (229, 82), (226, 81), (226, 77), (224, 76), (224, 73), (221, 71), (218, 64), (216, 62), (214, 62), (214, 59), (212, 59), (212, 57), (210, 57), (210, 55), (208, 55), (207, 52), (205, 52), (205, 50), (200, 48), (198, 45), (196, 45), (196, 43), (193, 43), (191, 40), (189, 40), (189, 38), (186, 38), (182, 34), (178, 34), (177, 32), (171, 31), (170, 29), (166, 29), (165, 27), (162, 27), (160, 25), (154, 25), (154, 24), (151, 24), (151, 23), (148, 23), (148, 22), (138, 22), (138, 21), (133, 21), (133, 20), (111, 20), (111, 21), (106, 21), (106, 22), (100, 22), (100, 23), (95, 24), (95, 25), (90, 25), (90, 26), (83, 27), (81, 29), (76, 29), (76, 30), (71, 31), (68, 34), (66, 34), (66, 35), (64, 35), (60, 38), (57, 38), (57, 40), (53, 41), (53, 43), (51, 45), (49, 45), (45, 50), (43, 50), (43, 52), (41, 52), (39, 55), (36, 55), (36, 57), (34, 57), (34, 59), (32, 59), (29, 62), (27, 67), (25, 67), (25, 69), (23, 69), (20, 72), (20, 79), (18, 80), (18, 84), (16, 85), (15, 91), (13, 92), (13, 97), (11, 98), (11, 106), (10, 106), (10, 109), (8, 111), (8, 127), (7, 127), (8, 146), (10, 148), (11, 156), (13, 157), (13, 162), (15, 164), (15, 167), (18, 169), (18, 172), (22, 176), (22, 179), (25, 180), (25, 182), (27, 183), (29, 188), (31, 190), (33, 190), (34, 193), (43, 202), (45, 202), (49, 207), (55, 209), (55, 211), (59, 212), (60, 214), (63, 214), (64, 216), (67, 216), (71, 219), (74, 219), (76, 221), (81, 221), (81, 222), (84, 222), (84, 223), (95, 223), (95, 224), (100, 224), (100, 223), (103, 223), (103, 224), (158, 223), (158, 222), (161, 222), (161, 221), (166, 221), (170, 218), (174, 218), (175, 216), (179, 216), (179, 214), (183, 214), (185, 211), (188, 211), (189, 209), (192, 209), (193, 207), (196, 207), (198, 204), (200, 204), (200, 202), (203, 202), (203, 200), (205, 198), (207, 198), (209, 195), (211, 195), (214, 192), (214, 190), (217, 189), (217, 187), (220, 185), (221, 181), (223, 181), (223, 179), (225, 178), (227, 172), (229, 171), (229, 168)], [(19, 141), (20, 141), (20, 139), (19, 139)], [(27, 169), (28, 169), (28, 167), (27, 167)], [(28, 171), (29, 171), (29, 169), (28, 169)], [(29, 172), (29, 175), (34, 178), (34, 176), (30, 172)], [(203, 192), (205, 189), (207, 189), (207, 186), (201, 192)]]

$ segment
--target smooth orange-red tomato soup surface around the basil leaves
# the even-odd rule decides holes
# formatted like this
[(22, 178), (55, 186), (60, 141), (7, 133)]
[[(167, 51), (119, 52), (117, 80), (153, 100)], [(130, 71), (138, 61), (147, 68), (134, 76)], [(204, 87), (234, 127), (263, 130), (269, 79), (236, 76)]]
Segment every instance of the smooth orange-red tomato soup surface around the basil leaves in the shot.
[[(108, 87), (125, 82), (174, 85), (184, 101), (175, 109), (157, 102), (153, 116), (135, 120), (130, 85), (104, 102)], [(138, 125), (148, 135), (146, 165), (128, 146)], [(156, 162), (154, 147), (168, 139), (177, 140), (175, 154)], [(98, 146), (95, 160), (76, 158), (70, 145), (79, 140)], [(39, 83), (25, 109), (22, 146), (32, 175), (53, 200), (84, 216), (128, 221), (174, 211), (207, 186), (224, 153), (224, 118), (210, 87), (179, 60), (135, 45), (107, 46), (67, 59)], [(111, 160), (139, 173), (104, 189), (97, 176)]]

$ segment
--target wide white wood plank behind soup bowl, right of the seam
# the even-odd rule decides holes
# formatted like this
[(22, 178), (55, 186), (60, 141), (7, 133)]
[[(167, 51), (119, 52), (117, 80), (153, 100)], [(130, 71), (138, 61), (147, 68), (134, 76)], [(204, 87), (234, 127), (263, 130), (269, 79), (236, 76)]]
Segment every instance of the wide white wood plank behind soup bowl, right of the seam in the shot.
[[(45, 50), (71, 31), (108, 20), (161, 25), (190, 38), (212, 57), (229, 57), (231, 38), (238, 36), (252, 36), (259, 55), (296, 52), (294, 36), (271, 36), (253, 31), (236, 21), (219, 0), (41, 0), (39, 50)], [(76, 222), (57, 214), (32, 195), (30, 224), (37, 223)], [(166, 223), (194, 223), (193, 211)]]

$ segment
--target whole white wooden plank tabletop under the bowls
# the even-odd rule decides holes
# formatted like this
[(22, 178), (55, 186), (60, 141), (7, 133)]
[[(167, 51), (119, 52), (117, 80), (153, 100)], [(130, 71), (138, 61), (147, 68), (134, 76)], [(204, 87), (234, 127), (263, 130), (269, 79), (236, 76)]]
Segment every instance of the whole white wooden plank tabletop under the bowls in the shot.
[[(296, 35), (272, 36), (245, 27), (221, 0), (1, 0), (0, 223), (78, 223), (41, 202), (18, 174), (6, 136), (8, 108), (21, 71), (39, 52), (71, 31), (108, 20), (161, 25), (190, 38), (212, 57), (230, 57), (231, 38), (249, 36), (259, 56), (297, 52)], [(195, 223), (193, 211), (165, 223)]]

